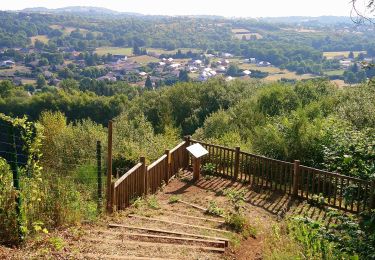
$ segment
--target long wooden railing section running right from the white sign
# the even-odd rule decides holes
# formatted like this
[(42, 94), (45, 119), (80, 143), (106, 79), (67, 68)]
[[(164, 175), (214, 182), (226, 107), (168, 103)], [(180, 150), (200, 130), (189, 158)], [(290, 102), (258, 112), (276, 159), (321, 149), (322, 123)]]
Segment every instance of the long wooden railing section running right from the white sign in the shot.
[(299, 161), (291, 163), (246, 153), (239, 147), (231, 149), (191, 139), (186, 145), (194, 143), (208, 150), (202, 165), (212, 164), (217, 175), (346, 211), (375, 208), (375, 181), (306, 167)]

